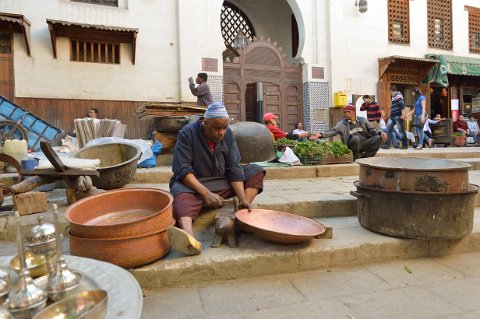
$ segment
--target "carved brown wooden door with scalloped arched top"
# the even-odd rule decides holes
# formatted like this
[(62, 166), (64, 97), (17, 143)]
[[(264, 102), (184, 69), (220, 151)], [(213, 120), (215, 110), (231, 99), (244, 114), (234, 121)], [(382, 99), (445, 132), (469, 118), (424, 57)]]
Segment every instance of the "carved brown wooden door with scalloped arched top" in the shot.
[[(262, 82), (263, 113), (272, 112), (279, 117), (278, 126), (291, 131), (303, 117), (303, 86), (301, 67), (292, 67), (285, 59), (282, 48), (269, 39), (254, 39), (238, 56), (223, 63), (224, 102), (229, 114), (245, 121), (245, 93), (247, 84)], [(278, 89), (278, 91), (277, 91)], [(270, 99), (278, 92), (278, 107)], [(274, 100), (274, 99), (272, 99)]]

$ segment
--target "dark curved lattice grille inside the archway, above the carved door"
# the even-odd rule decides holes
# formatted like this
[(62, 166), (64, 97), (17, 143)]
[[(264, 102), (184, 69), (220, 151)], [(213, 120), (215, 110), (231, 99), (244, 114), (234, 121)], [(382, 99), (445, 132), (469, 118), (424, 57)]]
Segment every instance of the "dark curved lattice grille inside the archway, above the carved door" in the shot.
[(223, 3), (220, 26), (223, 41), (231, 47), (233, 47), (233, 39), (235, 39), (239, 30), (243, 31), (247, 39), (253, 40), (255, 36), (255, 30), (248, 17), (240, 8), (230, 2), (225, 1)]

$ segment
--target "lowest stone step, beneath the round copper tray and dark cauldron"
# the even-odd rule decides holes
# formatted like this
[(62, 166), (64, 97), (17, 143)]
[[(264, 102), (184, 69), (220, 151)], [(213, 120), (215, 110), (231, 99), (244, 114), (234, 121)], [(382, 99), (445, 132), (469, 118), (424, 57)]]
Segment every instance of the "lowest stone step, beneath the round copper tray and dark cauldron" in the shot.
[(213, 229), (208, 229), (196, 234), (203, 244), (200, 255), (185, 257), (171, 250), (163, 259), (130, 272), (143, 288), (154, 289), (480, 250), (480, 209), (475, 211), (472, 233), (457, 240), (385, 236), (364, 229), (353, 216), (317, 220), (332, 226), (332, 239), (281, 245), (246, 233), (238, 248), (210, 248)]

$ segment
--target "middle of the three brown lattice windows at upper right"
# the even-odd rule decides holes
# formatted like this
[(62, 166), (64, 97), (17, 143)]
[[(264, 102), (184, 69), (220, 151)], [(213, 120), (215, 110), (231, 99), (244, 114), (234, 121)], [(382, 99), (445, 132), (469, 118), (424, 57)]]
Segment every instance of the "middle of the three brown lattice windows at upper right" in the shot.
[(452, 49), (452, 1), (427, 0), (428, 46)]

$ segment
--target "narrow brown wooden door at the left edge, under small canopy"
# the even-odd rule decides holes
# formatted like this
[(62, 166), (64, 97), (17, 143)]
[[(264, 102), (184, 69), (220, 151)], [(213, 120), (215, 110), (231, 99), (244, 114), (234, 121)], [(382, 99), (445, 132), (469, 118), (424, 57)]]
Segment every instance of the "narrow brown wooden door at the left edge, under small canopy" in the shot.
[(13, 75), (12, 33), (0, 33), (0, 95), (12, 101), (15, 97)]

